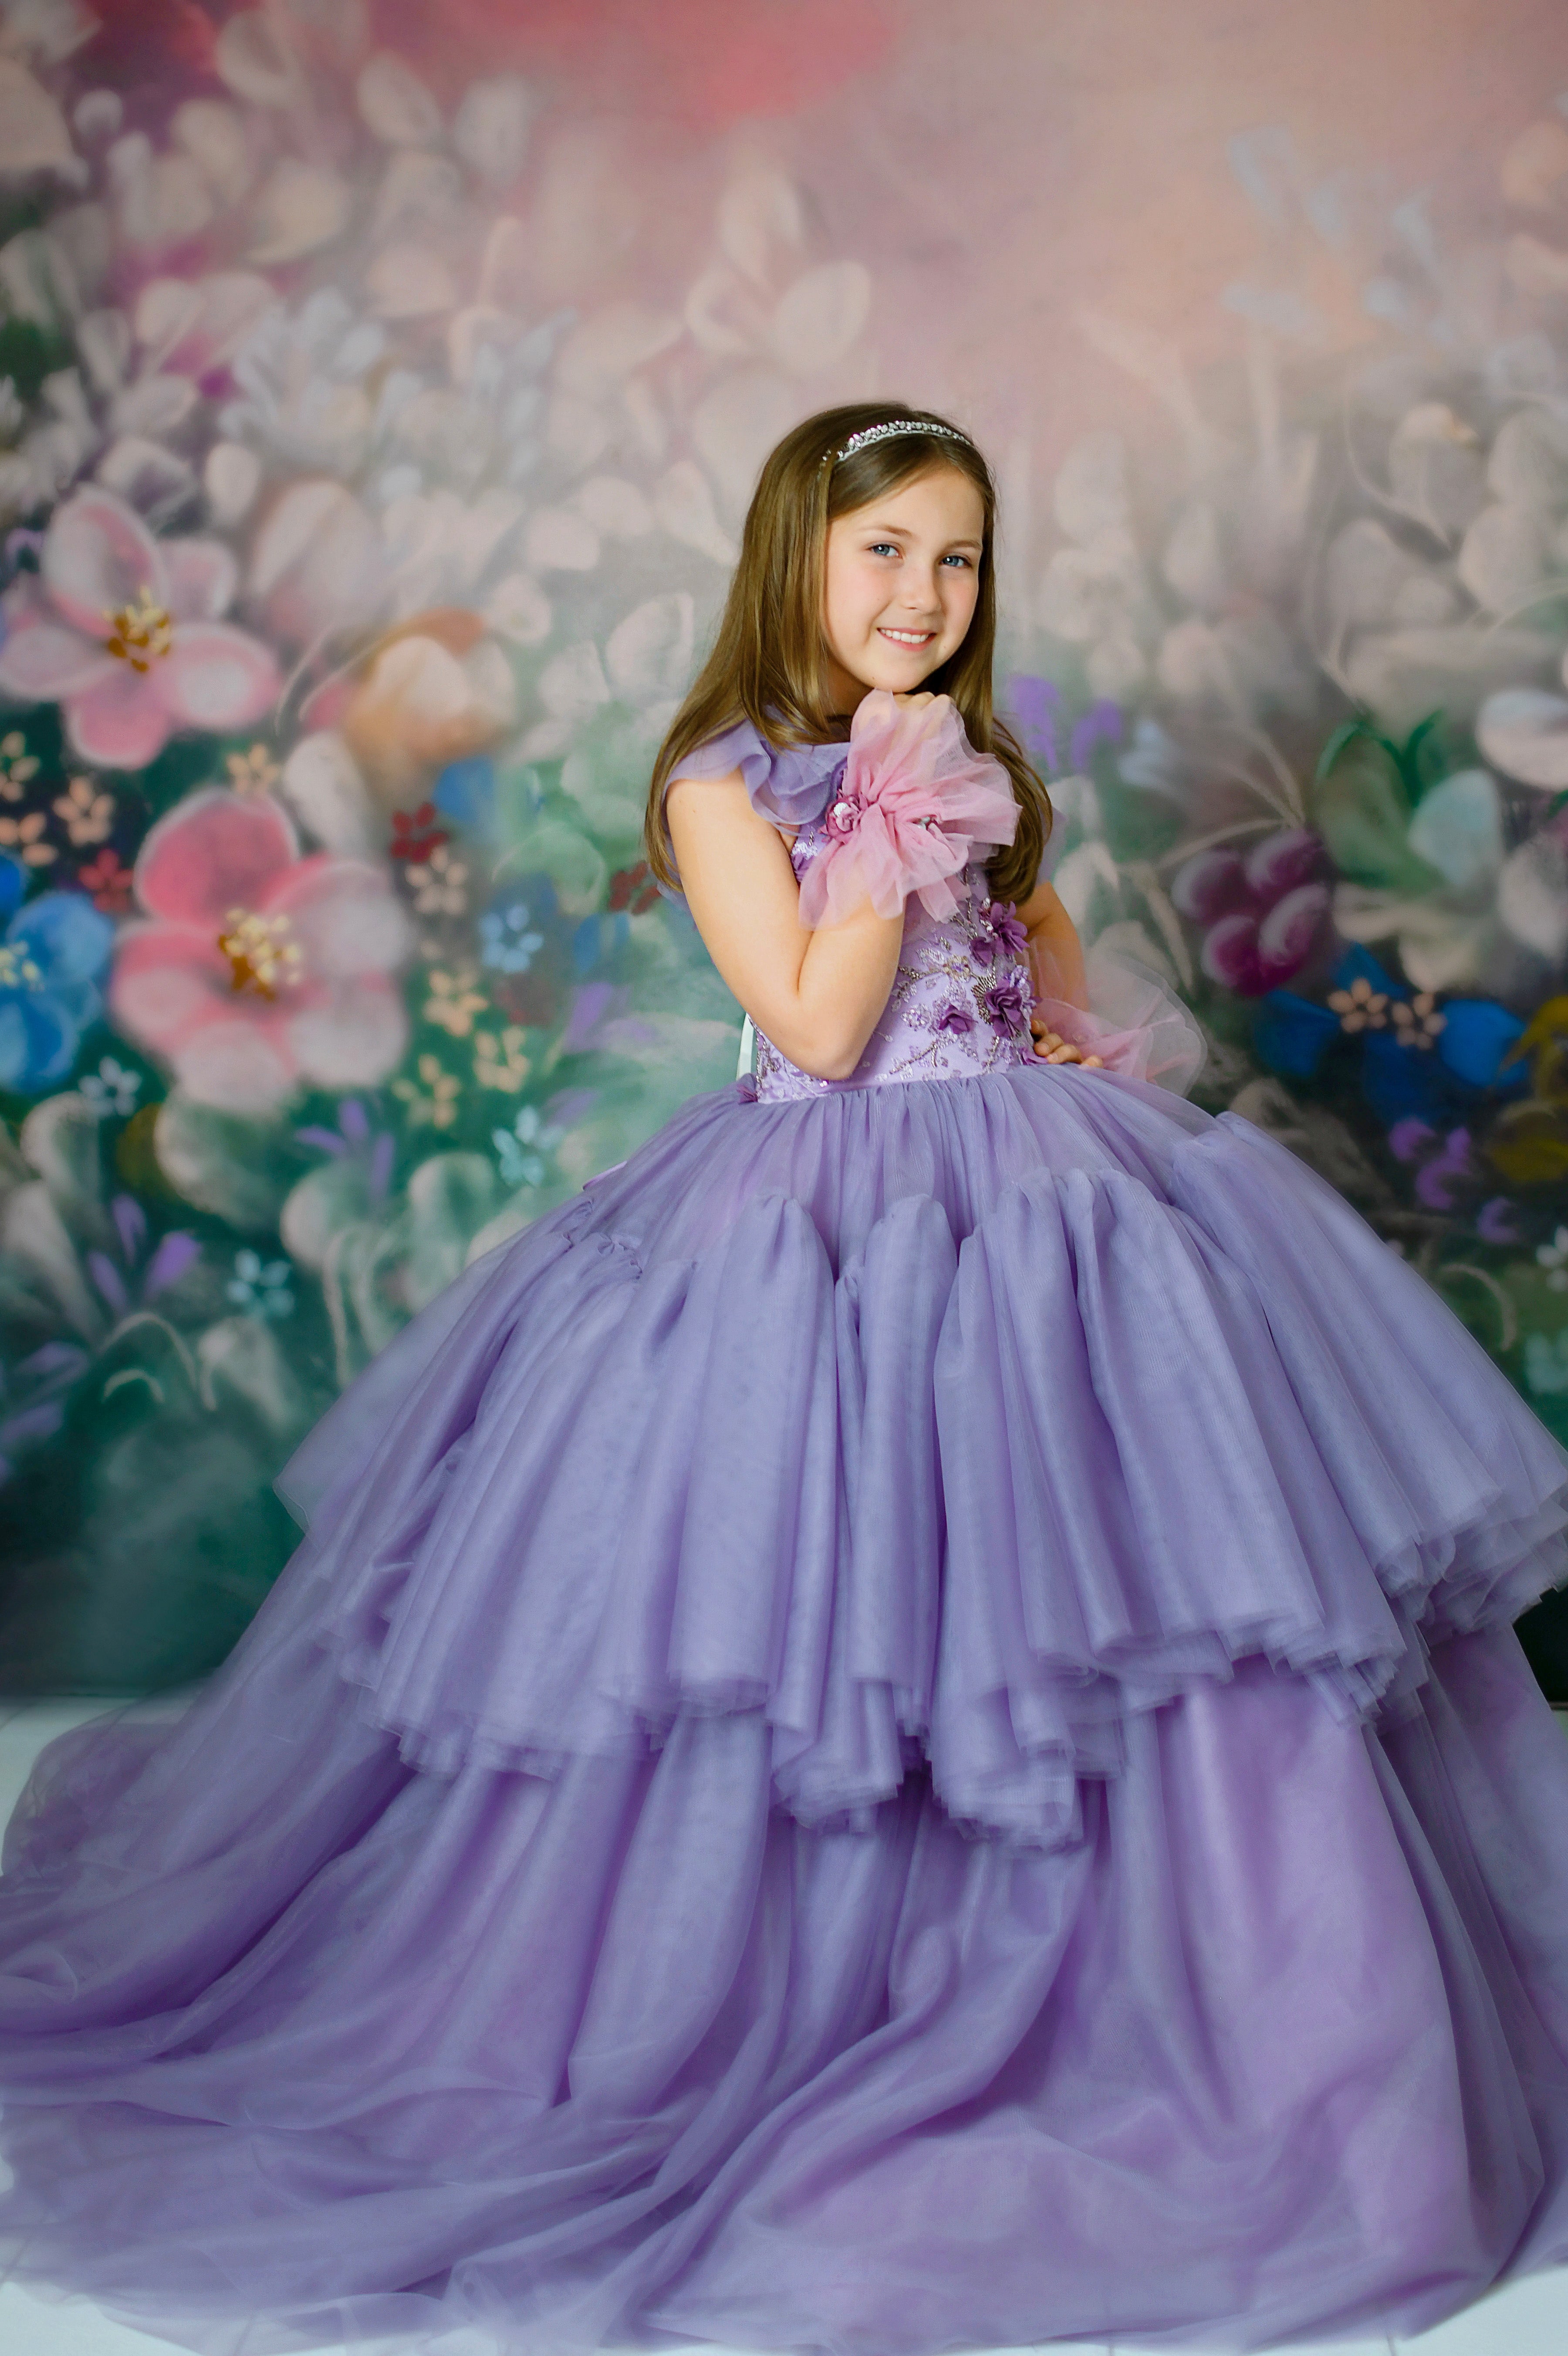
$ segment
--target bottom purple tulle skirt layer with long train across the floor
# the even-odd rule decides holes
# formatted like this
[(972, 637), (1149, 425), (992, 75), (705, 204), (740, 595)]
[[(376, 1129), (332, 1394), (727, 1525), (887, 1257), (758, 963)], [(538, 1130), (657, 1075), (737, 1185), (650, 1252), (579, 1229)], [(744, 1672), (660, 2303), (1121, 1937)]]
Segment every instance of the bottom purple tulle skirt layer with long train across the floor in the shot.
[(1424, 2330), (1568, 2255), (1568, 1758), (1509, 1628), (1415, 1713), (1262, 1659), (1083, 1840), (772, 1805), (758, 1710), (400, 1762), (278, 1590), (49, 1746), (0, 1882), (0, 2264), (202, 2356), (939, 2356)]

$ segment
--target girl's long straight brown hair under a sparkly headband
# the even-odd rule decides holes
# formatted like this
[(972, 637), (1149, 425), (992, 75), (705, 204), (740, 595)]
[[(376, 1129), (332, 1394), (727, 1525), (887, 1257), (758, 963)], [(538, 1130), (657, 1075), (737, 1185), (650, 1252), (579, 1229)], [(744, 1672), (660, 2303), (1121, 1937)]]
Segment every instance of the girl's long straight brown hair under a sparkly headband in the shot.
[(991, 891), (998, 900), (1026, 900), (1036, 886), (1052, 822), (1050, 796), (991, 704), (996, 483), (970, 441), (946, 441), (942, 434), (897, 434), (831, 462), (829, 452), (852, 434), (890, 419), (946, 426), (944, 417), (904, 408), (902, 401), (855, 401), (803, 419), (763, 466), (713, 650), (655, 761), (643, 848), (655, 876), (671, 888), (678, 876), (664, 832), (664, 782), (685, 754), (742, 719), (779, 747), (848, 737), (843, 714), (829, 712), (826, 688), (822, 589), (829, 523), (888, 497), (932, 466), (951, 466), (979, 492), (984, 547), (968, 636), (921, 686), (932, 695), (951, 695), (975, 752), (994, 754), (1012, 777), (1017, 839), (989, 862)]

